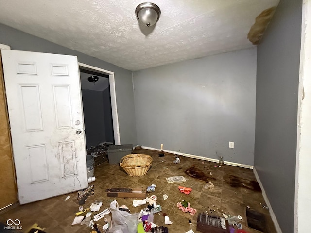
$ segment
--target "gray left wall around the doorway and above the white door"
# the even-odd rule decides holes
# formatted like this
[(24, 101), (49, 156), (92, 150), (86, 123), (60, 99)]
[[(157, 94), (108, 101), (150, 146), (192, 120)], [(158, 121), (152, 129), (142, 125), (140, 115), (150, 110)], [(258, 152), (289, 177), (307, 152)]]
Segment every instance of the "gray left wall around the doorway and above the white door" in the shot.
[(78, 61), (114, 72), (121, 144), (136, 144), (132, 71), (117, 67), (81, 52), (70, 50), (28, 33), (0, 24), (0, 43), (12, 50), (74, 55)]

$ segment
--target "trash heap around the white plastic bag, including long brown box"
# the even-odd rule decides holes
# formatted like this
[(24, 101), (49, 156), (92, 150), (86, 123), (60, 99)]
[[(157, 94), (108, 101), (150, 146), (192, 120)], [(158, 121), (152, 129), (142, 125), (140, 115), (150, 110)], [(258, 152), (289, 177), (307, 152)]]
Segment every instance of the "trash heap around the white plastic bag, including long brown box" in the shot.
[[(157, 196), (151, 195), (147, 197), (147, 192), (154, 192), (156, 184), (152, 184), (143, 188), (111, 188), (107, 189), (108, 197), (123, 197), (123, 198), (144, 198), (142, 200), (133, 200), (133, 207), (147, 205), (142, 208), (139, 213), (131, 213), (126, 205), (119, 206), (116, 199), (111, 201), (109, 208), (104, 208), (103, 200), (95, 200), (93, 203), (86, 205), (87, 198), (94, 195), (94, 185), (78, 191), (79, 209), (74, 213), (74, 218), (71, 225), (86, 225), (90, 228), (90, 233), (168, 233), (168, 228), (158, 226), (154, 223), (154, 214), (162, 211), (162, 208), (157, 204)], [(68, 196), (66, 200), (68, 200)], [(163, 200), (168, 196), (163, 195)], [(96, 212), (96, 213), (95, 213)], [(173, 224), (169, 216), (164, 216), (165, 224)]]

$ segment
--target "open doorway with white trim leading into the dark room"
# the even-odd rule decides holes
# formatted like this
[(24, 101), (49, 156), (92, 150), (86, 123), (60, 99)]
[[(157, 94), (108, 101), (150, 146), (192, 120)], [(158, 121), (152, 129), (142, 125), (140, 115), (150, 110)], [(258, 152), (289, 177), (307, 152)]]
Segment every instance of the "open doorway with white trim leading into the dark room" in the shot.
[(87, 154), (96, 156), (96, 166), (109, 145), (120, 145), (114, 73), (82, 63), (79, 68)]

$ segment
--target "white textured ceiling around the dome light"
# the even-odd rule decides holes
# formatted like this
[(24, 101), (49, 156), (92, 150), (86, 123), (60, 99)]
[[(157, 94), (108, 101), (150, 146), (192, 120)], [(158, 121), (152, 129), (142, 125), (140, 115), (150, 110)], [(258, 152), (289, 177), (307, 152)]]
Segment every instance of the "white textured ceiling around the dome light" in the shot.
[(279, 0), (152, 0), (153, 27), (140, 25), (142, 0), (0, 0), (0, 23), (129, 70), (253, 46), (255, 18)]

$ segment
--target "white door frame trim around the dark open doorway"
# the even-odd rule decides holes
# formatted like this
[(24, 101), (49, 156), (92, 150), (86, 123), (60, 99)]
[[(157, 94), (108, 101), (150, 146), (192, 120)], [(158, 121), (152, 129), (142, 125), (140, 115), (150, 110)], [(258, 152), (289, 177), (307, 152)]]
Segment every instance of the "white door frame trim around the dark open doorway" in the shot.
[(118, 118), (117, 98), (116, 98), (115, 73), (98, 67), (93, 67), (81, 62), (78, 62), (78, 65), (80, 68), (83, 68), (85, 70), (95, 71), (97, 73), (102, 73), (109, 76), (113, 134), (115, 139), (115, 145), (120, 145), (121, 141), (120, 141), (119, 118)]

